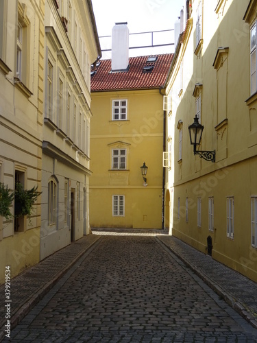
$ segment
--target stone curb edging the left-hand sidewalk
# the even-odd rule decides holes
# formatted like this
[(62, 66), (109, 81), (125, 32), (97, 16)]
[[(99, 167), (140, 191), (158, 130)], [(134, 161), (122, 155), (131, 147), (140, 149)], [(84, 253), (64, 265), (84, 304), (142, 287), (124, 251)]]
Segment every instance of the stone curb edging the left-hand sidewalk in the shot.
[[(33, 296), (28, 298), (26, 302), (19, 308), (15, 314), (11, 317), (11, 328), (14, 329), (19, 322), (32, 310), (32, 308), (49, 292), (49, 290), (62, 278), (62, 276), (79, 260), (84, 253), (89, 250), (94, 244), (99, 241), (101, 236), (96, 237), (95, 241), (90, 243), (86, 248), (84, 248), (81, 252), (79, 252), (76, 257), (71, 261), (66, 267), (64, 267), (58, 274), (53, 276), (53, 279), (48, 281), (45, 285), (43, 285), (38, 292), (36, 292)], [(36, 265), (35, 265), (36, 266)], [(0, 332), (0, 342), (5, 338), (5, 322), (1, 325), (1, 332)]]

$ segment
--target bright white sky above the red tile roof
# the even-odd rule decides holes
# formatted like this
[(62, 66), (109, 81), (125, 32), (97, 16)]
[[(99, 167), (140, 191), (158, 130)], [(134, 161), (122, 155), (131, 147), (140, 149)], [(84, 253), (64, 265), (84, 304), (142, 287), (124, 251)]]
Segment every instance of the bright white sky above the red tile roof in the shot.
[[(173, 30), (180, 16), (184, 0), (92, 0), (101, 49), (111, 48), (112, 27), (115, 23), (127, 22), (130, 30), (130, 47), (151, 45), (151, 34), (131, 35), (138, 32)], [(174, 43), (174, 32), (153, 34), (153, 43)], [(174, 45), (130, 49), (130, 57), (154, 54), (170, 54)], [(102, 59), (111, 58), (111, 52), (102, 53)]]

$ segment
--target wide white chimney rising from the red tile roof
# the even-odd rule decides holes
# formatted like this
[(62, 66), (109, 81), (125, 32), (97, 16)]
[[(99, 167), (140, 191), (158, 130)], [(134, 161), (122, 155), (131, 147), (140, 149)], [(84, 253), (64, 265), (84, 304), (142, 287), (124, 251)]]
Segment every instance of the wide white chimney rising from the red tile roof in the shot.
[(112, 27), (112, 71), (125, 71), (129, 65), (129, 29), (127, 23)]

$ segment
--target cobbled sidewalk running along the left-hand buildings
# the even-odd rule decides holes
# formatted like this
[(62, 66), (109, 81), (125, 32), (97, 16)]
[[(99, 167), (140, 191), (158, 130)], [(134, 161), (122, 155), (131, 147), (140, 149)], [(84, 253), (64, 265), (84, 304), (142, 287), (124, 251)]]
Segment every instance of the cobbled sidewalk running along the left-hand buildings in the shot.
[[(49, 292), (49, 289), (65, 274), (84, 252), (99, 239), (99, 236), (88, 235), (73, 242), (42, 262), (25, 270), (11, 280), (11, 326), (12, 328), (27, 314), (38, 301)], [(0, 342), (3, 338), (5, 319), (5, 285), (1, 285), (0, 294)]]

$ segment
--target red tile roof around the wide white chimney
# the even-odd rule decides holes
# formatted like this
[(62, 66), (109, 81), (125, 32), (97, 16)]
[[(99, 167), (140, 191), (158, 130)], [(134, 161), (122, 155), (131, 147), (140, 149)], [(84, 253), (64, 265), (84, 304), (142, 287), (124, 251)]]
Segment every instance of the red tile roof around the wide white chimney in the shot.
[[(159, 88), (167, 78), (173, 54), (156, 55), (156, 62), (147, 63), (149, 56), (131, 57), (128, 71), (112, 72), (111, 60), (101, 60), (91, 76), (91, 92)], [(154, 66), (143, 73), (143, 67)]]

